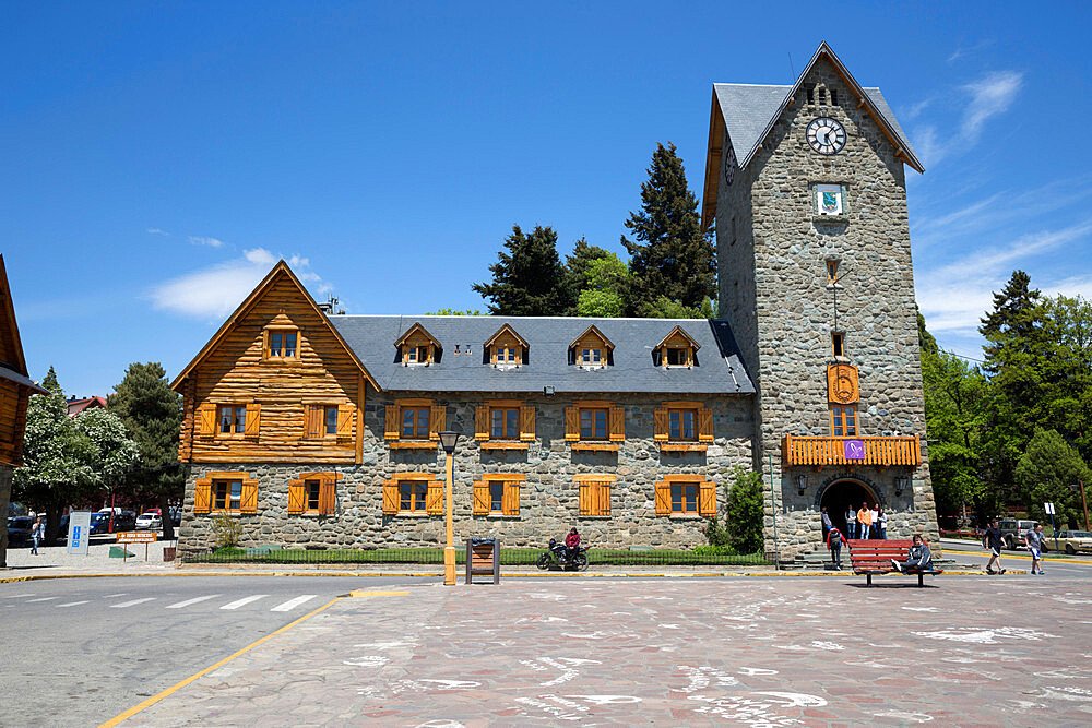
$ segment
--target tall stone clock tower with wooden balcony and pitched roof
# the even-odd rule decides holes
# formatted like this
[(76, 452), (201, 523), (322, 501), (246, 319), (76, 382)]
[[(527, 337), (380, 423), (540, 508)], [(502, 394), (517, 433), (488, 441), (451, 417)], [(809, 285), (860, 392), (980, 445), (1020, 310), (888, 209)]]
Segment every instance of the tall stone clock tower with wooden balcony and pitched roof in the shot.
[(702, 223), (758, 392), (753, 465), (782, 558), (820, 546), (822, 506), (841, 528), (864, 502), (888, 538), (939, 544), (907, 167), (924, 171), (880, 91), (826, 43), (792, 86), (713, 86)]

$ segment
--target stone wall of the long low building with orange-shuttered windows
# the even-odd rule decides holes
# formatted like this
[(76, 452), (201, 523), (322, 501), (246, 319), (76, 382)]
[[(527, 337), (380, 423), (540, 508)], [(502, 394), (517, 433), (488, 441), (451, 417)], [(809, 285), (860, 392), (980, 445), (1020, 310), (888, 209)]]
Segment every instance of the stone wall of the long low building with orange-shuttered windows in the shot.
[[(375, 548), (436, 546), (443, 536), (441, 515), (383, 515), (382, 484), (395, 473), (430, 473), (443, 479), (443, 453), (436, 450), (392, 450), (383, 439), (385, 408), (399, 397), (422, 393), (369, 391), (365, 411), (364, 458), (360, 465), (294, 464), (193, 464), (186, 481), (186, 500), (179, 528), (181, 553), (212, 548), (213, 516), (193, 513), (193, 484), (217, 470), (246, 470), (259, 481), (258, 513), (238, 515), (244, 546), (283, 544), (296, 547)], [(707, 397), (713, 410), (715, 441), (705, 453), (661, 454), (653, 442), (653, 410), (661, 398), (648, 395), (614, 396), (626, 408), (626, 440), (617, 454), (572, 453), (565, 441), (563, 413), (572, 404), (566, 396), (535, 396), (536, 440), (522, 452), (483, 451), (473, 439), (474, 408), (485, 399), (467, 395), (438, 394), (447, 406), (447, 427), (463, 437), (454, 460), (455, 540), (491, 536), (507, 546), (542, 546), (551, 536), (562, 536), (577, 526), (585, 542), (595, 547), (626, 548), (633, 545), (689, 548), (704, 542), (697, 516), (657, 516), (654, 484), (664, 475), (702, 474), (725, 482), (736, 465), (751, 462), (751, 404), (749, 396)], [(663, 397), (664, 399), (672, 397)], [(288, 480), (301, 472), (336, 470), (336, 513), (329, 516), (288, 515)], [(483, 473), (524, 474), (518, 516), (474, 515), (472, 484)], [(581, 516), (578, 508), (578, 474), (614, 474), (609, 516)], [(717, 488), (719, 509), (726, 491)]]

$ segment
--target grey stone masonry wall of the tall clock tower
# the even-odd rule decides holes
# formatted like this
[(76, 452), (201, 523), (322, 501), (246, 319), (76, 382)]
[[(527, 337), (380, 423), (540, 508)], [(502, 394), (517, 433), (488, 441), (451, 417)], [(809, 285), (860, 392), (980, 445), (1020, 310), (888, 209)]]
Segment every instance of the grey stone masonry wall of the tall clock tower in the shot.
[[(835, 89), (842, 105), (808, 105), (804, 88), (816, 83)], [(817, 116), (844, 124), (847, 141), (839, 154), (822, 156), (808, 146), (805, 130)], [(723, 179), (723, 167), (721, 174)], [(796, 488), (791, 474), (782, 473), (781, 440), (788, 432), (830, 433), (826, 368), (833, 362), (832, 331), (845, 332), (847, 360), (858, 368), (859, 434), (921, 437), (925, 463), (913, 474), (913, 509), (897, 504), (906, 505), (900, 513), (917, 515), (898, 517), (937, 536), (904, 175), (880, 127), (857, 107), (834, 68), (820, 59), (747, 168), (736, 172), (731, 187), (720, 188), (721, 300), (729, 302), (723, 315), (732, 322), (759, 392), (756, 461), (769, 467), (767, 456), (773, 455), (773, 480), (781, 491), (779, 537), (812, 534), (790, 542), (792, 550), (817, 546), (821, 532), (800, 525), (818, 521), (818, 505), (807, 513), (783, 505), (786, 497), (793, 501)], [(815, 183), (847, 187), (842, 219), (815, 219)], [(733, 216), (735, 244), (729, 241)], [(840, 261), (836, 290), (828, 285), (828, 259)], [(806, 493), (805, 500), (816, 503), (815, 497)], [(770, 550), (773, 517), (768, 502)]]

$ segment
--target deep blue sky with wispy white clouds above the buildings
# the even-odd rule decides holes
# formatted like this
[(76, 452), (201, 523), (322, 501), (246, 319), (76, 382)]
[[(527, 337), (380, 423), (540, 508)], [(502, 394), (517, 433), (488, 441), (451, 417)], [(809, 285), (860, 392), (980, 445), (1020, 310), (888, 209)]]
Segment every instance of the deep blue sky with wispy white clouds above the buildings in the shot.
[[(176, 374), (278, 258), (351, 313), (482, 308), (513, 223), (619, 253), (657, 141), (826, 38), (880, 86), (941, 344), (1016, 267), (1092, 297), (1087, 3), (5, 3), (0, 252), (32, 377)], [(790, 60), (792, 59), (792, 60)], [(792, 65), (791, 65), (792, 63)]]

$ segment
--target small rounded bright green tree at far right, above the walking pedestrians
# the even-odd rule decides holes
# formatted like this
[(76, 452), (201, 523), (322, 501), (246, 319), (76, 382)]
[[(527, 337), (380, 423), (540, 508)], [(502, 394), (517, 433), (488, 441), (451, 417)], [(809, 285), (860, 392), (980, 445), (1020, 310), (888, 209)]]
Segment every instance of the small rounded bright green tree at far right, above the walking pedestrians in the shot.
[(1081, 522), (1080, 494), (1069, 486), (1078, 481), (1088, 484), (1092, 474), (1077, 451), (1055, 430), (1035, 429), (1028, 452), (1017, 464), (1016, 476), (1032, 517), (1049, 523), (1043, 504), (1054, 503), (1055, 523), (1059, 527)]

